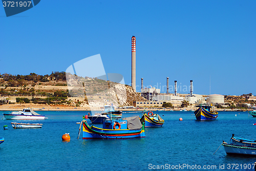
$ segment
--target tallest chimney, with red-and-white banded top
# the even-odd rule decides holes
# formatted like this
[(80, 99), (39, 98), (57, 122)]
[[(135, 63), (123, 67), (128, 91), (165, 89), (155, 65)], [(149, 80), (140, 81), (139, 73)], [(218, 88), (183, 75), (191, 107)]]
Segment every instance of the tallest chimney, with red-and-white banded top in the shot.
[(136, 37), (132, 37), (132, 87), (136, 91)]

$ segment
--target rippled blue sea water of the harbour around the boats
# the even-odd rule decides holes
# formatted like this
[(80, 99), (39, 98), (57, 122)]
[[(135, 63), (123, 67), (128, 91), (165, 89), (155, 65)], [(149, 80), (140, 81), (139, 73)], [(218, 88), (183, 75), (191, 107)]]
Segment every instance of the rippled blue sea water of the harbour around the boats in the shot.
[[(80, 124), (76, 122), (88, 111), (38, 113), (48, 119), (0, 120), (0, 137), (5, 138), (0, 144), (1, 170), (253, 170), (256, 161), (228, 156), (221, 145), (232, 134), (256, 139), (256, 118), (247, 112), (219, 112), (214, 121), (197, 121), (193, 112), (154, 112), (165, 120), (162, 127), (145, 128), (145, 138), (115, 140), (83, 140), (82, 131), (77, 139)], [(136, 115), (141, 113), (124, 113), (123, 117)], [(43, 125), (14, 130), (11, 122)], [(65, 133), (70, 133), (70, 142), (61, 140)]]

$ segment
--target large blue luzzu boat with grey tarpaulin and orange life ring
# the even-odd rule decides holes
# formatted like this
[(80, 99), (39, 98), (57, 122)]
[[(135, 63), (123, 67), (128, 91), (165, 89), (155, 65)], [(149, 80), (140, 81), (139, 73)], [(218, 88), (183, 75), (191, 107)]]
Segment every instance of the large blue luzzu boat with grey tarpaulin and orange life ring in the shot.
[(145, 137), (144, 123), (141, 124), (139, 116), (123, 118), (122, 120), (105, 119), (103, 121), (102, 129), (93, 125), (89, 126), (86, 120), (83, 120), (81, 124), (83, 125), (82, 139), (124, 139)]

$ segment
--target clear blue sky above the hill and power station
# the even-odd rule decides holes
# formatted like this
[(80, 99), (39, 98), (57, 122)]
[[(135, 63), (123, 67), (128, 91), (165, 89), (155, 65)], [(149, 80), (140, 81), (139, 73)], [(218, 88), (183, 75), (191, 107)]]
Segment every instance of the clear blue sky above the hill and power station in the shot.
[(130, 84), (135, 35), (137, 86), (143, 77), (165, 92), (169, 77), (182, 89), (192, 79), (195, 94), (256, 95), (255, 9), (255, 1), (41, 1), (6, 17), (2, 7), (0, 73), (51, 74), (100, 54), (105, 72)]

